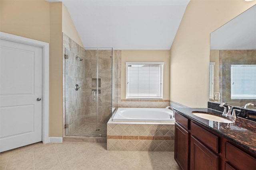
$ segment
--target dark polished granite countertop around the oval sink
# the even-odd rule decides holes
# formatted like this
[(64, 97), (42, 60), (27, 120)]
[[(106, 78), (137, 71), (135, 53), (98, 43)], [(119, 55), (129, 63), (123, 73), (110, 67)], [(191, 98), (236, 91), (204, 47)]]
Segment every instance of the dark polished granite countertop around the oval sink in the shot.
[(227, 127), (228, 123), (214, 123), (206, 119), (202, 119), (192, 114), (192, 111), (206, 111), (214, 115), (222, 116), (222, 112), (209, 108), (183, 108), (177, 107), (175, 110), (184, 116), (195, 121), (196, 123), (206, 127), (225, 137), (226, 139), (236, 143), (240, 147), (248, 150), (256, 156), (256, 122), (246, 120), (240, 117), (234, 119), (235, 123)]

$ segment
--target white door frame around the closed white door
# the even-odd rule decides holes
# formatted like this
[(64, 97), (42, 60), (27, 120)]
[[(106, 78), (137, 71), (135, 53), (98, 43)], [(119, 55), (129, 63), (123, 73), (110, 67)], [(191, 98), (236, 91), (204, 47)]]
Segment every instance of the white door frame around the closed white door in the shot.
[(42, 142), (49, 143), (49, 43), (0, 32), (0, 39), (41, 47), (42, 63)]

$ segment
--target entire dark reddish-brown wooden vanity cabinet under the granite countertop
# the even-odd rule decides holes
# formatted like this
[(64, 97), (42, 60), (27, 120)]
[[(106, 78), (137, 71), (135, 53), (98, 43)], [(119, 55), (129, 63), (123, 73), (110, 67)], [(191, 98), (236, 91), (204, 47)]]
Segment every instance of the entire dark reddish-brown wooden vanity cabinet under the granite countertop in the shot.
[(175, 110), (174, 159), (182, 170), (254, 170), (256, 156)]

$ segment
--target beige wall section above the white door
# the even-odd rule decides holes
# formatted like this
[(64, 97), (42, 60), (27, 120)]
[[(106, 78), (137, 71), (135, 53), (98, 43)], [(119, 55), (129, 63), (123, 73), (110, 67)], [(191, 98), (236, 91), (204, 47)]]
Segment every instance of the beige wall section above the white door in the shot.
[(1, 0), (1, 31), (50, 43), (50, 3)]

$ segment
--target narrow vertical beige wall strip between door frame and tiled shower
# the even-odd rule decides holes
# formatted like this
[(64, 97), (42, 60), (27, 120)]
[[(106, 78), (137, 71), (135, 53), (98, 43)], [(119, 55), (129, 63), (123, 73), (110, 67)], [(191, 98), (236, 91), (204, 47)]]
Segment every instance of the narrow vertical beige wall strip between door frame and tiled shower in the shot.
[(50, 3), (50, 137), (62, 137), (62, 2)]

